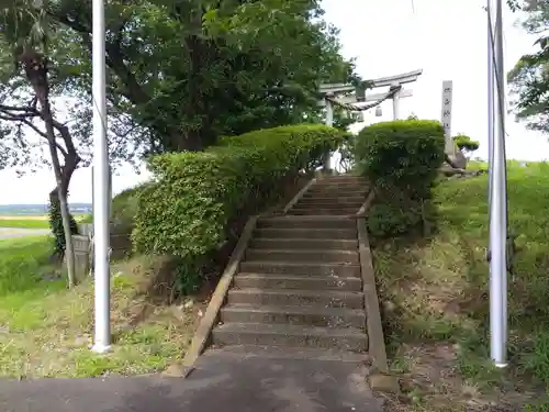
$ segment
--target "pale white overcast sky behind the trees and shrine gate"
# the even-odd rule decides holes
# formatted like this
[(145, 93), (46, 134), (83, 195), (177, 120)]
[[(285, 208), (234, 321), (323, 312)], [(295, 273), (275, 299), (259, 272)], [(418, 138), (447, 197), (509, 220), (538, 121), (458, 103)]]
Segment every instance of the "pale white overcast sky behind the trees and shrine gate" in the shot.
[[(346, 57), (357, 58), (363, 78), (397, 75), (423, 68), (418, 81), (407, 88), (414, 96), (402, 99), (401, 115), (440, 119), (442, 80), (453, 81), (452, 134), (480, 141), (478, 155), (486, 156), (486, 13), (482, 0), (324, 0), (326, 20), (341, 30)], [(516, 25), (517, 15), (506, 12), (504, 22), (505, 71), (525, 53), (534, 37)], [(383, 116), (367, 115), (372, 123), (392, 118), (385, 102)], [(507, 119), (507, 156), (539, 160), (549, 157), (547, 137), (526, 131)], [(130, 167), (113, 178), (116, 193), (145, 177)], [(0, 171), (0, 204), (44, 203), (54, 186), (49, 170), (16, 178)], [(91, 172), (79, 169), (70, 186), (71, 202), (91, 201)]]

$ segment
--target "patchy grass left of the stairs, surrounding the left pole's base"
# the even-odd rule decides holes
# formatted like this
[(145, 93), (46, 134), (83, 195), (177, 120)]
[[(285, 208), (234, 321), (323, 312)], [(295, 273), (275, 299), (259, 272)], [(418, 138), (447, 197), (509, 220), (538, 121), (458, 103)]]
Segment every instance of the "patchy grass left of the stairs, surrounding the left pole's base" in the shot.
[(48, 264), (51, 242), (0, 241), (0, 376), (138, 375), (184, 355), (197, 308), (163, 304), (147, 294), (161, 264), (148, 257), (113, 265), (113, 348), (92, 353), (92, 283), (67, 290), (60, 270)]

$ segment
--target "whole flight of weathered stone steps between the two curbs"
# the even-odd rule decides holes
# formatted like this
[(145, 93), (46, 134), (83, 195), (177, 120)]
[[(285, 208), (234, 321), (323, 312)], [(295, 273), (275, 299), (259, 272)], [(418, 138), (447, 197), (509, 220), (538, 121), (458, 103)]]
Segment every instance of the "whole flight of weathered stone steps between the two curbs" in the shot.
[(284, 216), (261, 218), (234, 278), (214, 347), (244, 353), (368, 350), (355, 213), (365, 179), (316, 180)]

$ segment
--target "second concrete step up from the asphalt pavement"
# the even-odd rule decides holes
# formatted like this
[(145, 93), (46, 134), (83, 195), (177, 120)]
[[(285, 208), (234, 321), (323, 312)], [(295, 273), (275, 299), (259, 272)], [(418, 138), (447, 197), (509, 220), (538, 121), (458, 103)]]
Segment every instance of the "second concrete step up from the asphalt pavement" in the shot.
[(355, 327), (366, 331), (366, 314), (362, 309), (229, 304), (221, 310), (221, 321), (223, 323)]

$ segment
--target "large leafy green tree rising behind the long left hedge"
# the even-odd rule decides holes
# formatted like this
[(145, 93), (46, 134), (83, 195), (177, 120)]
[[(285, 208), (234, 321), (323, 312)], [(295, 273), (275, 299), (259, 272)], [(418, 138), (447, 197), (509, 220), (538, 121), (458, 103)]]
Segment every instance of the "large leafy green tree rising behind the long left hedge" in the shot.
[[(90, 2), (45, 4), (89, 54)], [(352, 69), (321, 16), (313, 0), (111, 1), (109, 99), (152, 132), (153, 152), (301, 121), (320, 81), (345, 81)]]

